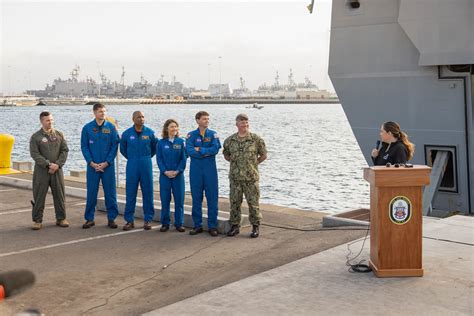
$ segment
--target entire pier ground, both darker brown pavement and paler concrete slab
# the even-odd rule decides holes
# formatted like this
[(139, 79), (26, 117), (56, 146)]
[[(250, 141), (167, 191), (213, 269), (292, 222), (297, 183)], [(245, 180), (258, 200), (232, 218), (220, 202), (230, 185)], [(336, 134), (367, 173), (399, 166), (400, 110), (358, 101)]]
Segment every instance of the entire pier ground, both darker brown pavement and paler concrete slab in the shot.
[(18, 187), (31, 174), (8, 177), (17, 184), (0, 184), (0, 272), (29, 269), (37, 282), (0, 302), (0, 315), (473, 314), (473, 217), (424, 218), (425, 276), (378, 279), (347, 271), (348, 247), (358, 253), (367, 227), (323, 229), (324, 213), (262, 205), (257, 239), (250, 228), (237, 237), (161, 233), (158, 223), (144, 231), (138, 218), (137, 229), (114, 230), (102, 212), (85, 230), (84, 181), (68, 178), (71, 227), (55, 225), (48, 195), (44, 227), (33, 231), (31, 191)]

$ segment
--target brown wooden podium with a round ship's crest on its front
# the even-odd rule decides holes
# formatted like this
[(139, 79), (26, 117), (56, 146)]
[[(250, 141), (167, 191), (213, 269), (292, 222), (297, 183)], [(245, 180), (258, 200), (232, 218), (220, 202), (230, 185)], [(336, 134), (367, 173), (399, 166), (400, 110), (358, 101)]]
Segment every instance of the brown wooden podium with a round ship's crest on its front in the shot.
[(422, 199), (431, 168), (376, 166), (364, 169), (370, 183), (370, 261), (375, 275), (423, 276)]

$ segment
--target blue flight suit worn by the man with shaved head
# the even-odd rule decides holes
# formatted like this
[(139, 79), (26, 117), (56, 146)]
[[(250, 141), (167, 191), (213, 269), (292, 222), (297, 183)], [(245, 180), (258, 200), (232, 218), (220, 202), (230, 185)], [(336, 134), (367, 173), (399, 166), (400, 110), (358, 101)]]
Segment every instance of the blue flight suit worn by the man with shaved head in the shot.
[(128, 223), (134, 221), (138, 184), (142, 191), (144, 221), (151, 222), (155, 215), (151, 158), (156, 153), (156, 145), (155, 132), (146, 126), (143, 126), (140, 133), (137, 133), (135, 126), (132, 126), (123, 132), (120, 139), (120, 152), (127, 158), (124, 218)]

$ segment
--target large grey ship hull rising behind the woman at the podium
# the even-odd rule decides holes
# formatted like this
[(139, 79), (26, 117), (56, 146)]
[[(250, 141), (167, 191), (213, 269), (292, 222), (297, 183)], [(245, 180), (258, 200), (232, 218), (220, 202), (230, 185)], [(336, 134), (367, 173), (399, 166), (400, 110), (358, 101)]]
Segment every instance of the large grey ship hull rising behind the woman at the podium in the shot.
[[(474, 1), (333, 0), (329, 76), (370, 164), (400, 122), (433, 166), (424, 214), (474, 207)], [(431, 207), (430, 207), (431, 205)]]

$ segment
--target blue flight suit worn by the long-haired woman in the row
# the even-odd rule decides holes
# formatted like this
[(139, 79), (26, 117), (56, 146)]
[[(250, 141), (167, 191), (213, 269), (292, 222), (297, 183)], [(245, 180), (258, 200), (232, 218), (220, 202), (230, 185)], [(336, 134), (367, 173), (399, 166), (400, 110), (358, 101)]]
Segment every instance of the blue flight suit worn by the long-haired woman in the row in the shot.
[[(184, 139), (176, 137), (160, 139), (156, 148), (156, 162), (160, 168), (160, 198), (162, 225), (170, 224), (171, 192), (174, 199), (174, 226), (184, 224), (184, 169), (186, 169), (186, 149)], [(174, 178), (168, 178), (165, 171), (178, 171)]]

